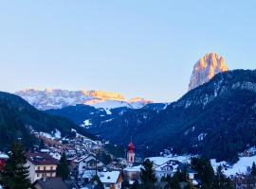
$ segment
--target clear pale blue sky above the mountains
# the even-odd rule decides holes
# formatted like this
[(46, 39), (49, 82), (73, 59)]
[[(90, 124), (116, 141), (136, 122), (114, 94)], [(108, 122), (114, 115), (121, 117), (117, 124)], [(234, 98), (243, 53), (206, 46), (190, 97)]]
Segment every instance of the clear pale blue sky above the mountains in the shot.
[(173, 101), (207, 52), (255, 69), (256, 1), (0, 3), (0, 91), (103, 90)]

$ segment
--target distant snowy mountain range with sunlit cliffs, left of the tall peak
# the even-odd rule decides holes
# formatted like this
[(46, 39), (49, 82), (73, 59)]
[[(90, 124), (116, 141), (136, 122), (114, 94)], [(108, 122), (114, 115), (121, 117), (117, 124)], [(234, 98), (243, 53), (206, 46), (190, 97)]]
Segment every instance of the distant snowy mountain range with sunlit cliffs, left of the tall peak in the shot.
[(60, 89), (46, 89), (41, 91), (27, 89), (15, 94), (23, 97), (29, 104), (42, 111), (62, 109), (77, 104), (103, 108), (107, 111), (119, 107), (140, 109), (149, 103), (153, 103), (153, 101), (139, 97), (126, 100), (121, 94), (102, 91), (67, 91)]

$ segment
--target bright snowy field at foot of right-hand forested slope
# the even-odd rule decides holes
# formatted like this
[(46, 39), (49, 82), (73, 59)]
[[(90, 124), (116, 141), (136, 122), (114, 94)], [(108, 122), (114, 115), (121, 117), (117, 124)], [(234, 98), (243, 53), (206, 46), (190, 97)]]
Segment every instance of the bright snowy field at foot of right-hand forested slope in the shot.
[(216, 170), (218, 165), (225, 165), (227, 168), (225, 168), (224, 174), (229, 176), (234, 176), (237, 174), (247, 174), (249, 168), (251, 167), (252, 163), (256, 163), (256, 156), (251, 157), (241, 157), (240, 160), (237, 163), (234, 163), (233, 165), (229, 165), (226, 162), (216, 163), (215, 160), (210, 160), (210, 163), (214, 170)]

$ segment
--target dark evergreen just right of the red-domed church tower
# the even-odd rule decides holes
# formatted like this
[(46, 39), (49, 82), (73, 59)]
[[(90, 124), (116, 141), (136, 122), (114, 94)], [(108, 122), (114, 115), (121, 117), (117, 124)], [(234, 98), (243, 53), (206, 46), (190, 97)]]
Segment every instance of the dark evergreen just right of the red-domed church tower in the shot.
[(141, 168), (141, 181), (144, 189), (154, 189), (155, 186), (155, 172), (153, 170), (153, 163), (150, 160), (145, 160), (142, 163), (143, 168)]

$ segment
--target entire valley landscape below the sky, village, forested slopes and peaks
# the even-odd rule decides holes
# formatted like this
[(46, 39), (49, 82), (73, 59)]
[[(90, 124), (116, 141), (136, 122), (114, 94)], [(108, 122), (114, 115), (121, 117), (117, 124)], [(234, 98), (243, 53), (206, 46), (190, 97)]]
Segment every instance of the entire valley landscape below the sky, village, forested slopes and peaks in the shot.
[(216, 53), (195, 63), (188, 94), (174, 103), (100, 91), (1, 93), (1, 188), (256, 188), (256, 132), (243, 129), (256, 129), (255, 99), (256, 72), (229, 71)]

